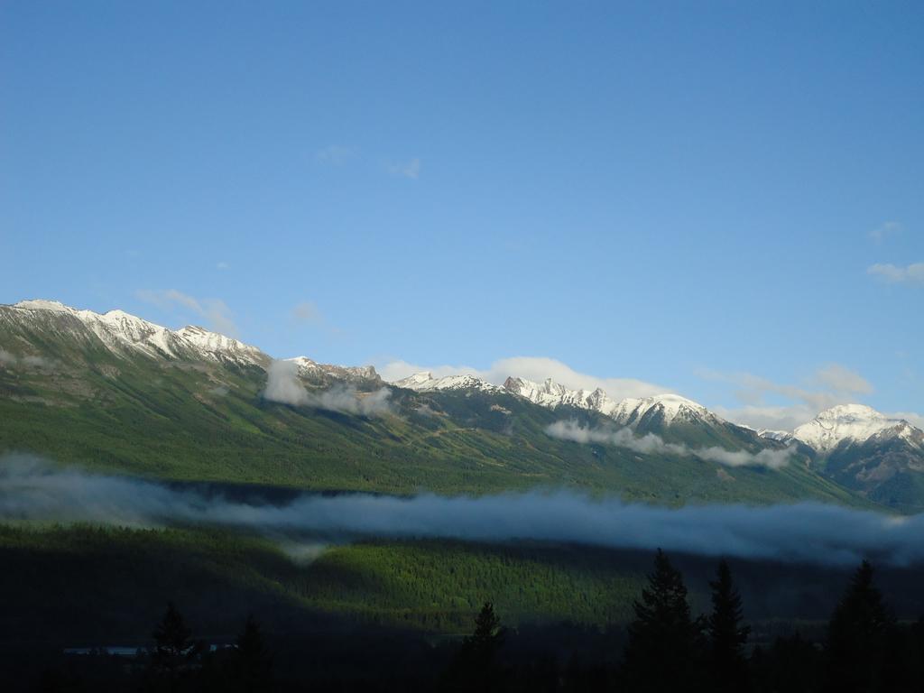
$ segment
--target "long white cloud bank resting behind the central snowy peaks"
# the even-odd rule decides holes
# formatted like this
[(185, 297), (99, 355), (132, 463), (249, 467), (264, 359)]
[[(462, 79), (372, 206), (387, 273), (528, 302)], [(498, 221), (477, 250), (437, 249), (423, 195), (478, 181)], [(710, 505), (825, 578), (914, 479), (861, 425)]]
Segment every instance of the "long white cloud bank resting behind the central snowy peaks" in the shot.
[(472, 366), (421, 366), (395, 360), (385, 364), (376, 364), (376, 370), (384, 381), (394, 383), (420, 371), (430, 371), (436, 377), (444, 375), (475, 375), (488, 383), (502, 384), (510, 377), (525, 378), (532, 381), (544, 381), (552, 378), (555, 383), (565, 385), (572, 390), (594, 390), (602, 388), (607, 395), (619, 400), (626, 397), (650, 397), (671, 392), (670, 388), (655, 383), (646, 383), (633, 378), (600, 378), (588, 373), (575, 371), (570, 366), (556, 359), (547, 357), (517, 356), (510, 359), (494, 361), (488, 369), (480, 370)]

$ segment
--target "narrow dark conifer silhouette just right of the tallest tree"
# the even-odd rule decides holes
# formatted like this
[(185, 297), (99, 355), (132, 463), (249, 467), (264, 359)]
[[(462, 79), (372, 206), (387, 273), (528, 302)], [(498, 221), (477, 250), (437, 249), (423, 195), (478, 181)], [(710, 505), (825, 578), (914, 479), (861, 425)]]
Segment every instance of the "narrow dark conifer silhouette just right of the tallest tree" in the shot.
[(709, 586), (712, 590), (712, 613), (706, 626), (711, 687), (715, 691), (747, 690), (748, 662), (744, 645), (748, 642), (750, 626), (741, 623), (744, 620), (741, 595), (735, 589), (732, 571), (724, 560), (719, 562), (715, 579)]

